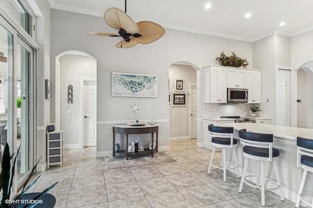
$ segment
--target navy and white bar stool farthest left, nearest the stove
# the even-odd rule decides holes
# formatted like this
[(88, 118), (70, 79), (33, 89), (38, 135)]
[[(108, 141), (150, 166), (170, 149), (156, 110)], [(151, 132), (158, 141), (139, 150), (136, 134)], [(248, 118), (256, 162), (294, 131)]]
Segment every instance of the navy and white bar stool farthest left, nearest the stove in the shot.
[[(234, 128), (233, 127), (221, 127), (221, 126), (213, 126), (213, 124), (210, 124), (208, 126), (210, 135), (212, 136), (211, 142), (213, 146), (212, 154), (211, 154), (211, 160), (209, 164), (209, 168), (207, 170), (207, 174), (210, 174), (211, 166), (222, 169), (224, 174), (224, 182), (226, 182), (226, 163), (233, 165), (234, 167), (229, 169), (237, 169), (237, 175), (238, 178), (240, 178), (239, 169), (238, 169), (238, 162), (236, 157), (236, 147), (237, 147), (237, 140), (233, 138)], [(213, 163), (213, 157), (215, 148), (222, 148), (222, 167), (214, 166)], [(226, 148), (231, 148), (232, 153), (234, 155), (235, 164), (231, 162), (226, 162)]]

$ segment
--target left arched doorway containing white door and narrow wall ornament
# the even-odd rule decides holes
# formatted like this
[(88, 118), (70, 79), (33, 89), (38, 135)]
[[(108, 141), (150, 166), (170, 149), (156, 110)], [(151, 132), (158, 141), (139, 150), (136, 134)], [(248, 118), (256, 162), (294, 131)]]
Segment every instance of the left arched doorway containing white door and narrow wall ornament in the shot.
[[(96, 71), (96, 59), (85, 52), (66, 51), (56, 57), (55, 122), (63, 130), (65, 149), (96, 146)], [(89, 109), (94, 111), (93, 120)]]

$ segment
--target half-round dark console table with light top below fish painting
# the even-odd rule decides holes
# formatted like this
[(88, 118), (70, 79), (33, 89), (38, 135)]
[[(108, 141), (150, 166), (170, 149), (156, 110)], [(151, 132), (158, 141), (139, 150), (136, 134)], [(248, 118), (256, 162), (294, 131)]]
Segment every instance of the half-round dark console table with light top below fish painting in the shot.
[[(153, 142), (154, 142), (154, 133), (156, 133), (156, 152), (157, 152), (157, 133), (158, 133), (158, 125), (143, 125), (143, 126), (131, 126), (127, 124), (121, 125), (113, 125), (113, 157), (115, 150), (115, 133), (126, 134), (126, 160), (128, 160), (128, 135), (129, 134), (149, 134), (151, 133), (151, 157), (153, 157)], [(149, 149), (148, 149), (149, 150)], [(147, 151), (147, 150), (146, 150)]]

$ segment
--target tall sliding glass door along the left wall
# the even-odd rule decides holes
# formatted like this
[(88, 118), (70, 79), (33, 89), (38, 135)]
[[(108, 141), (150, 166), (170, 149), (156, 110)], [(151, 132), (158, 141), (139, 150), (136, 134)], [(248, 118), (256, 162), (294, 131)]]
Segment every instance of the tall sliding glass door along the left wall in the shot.
[(7, 143), (17, 155), (12, 193), (22, 187), (34, 164), (34, 52), (0, 15), (0, 162)]

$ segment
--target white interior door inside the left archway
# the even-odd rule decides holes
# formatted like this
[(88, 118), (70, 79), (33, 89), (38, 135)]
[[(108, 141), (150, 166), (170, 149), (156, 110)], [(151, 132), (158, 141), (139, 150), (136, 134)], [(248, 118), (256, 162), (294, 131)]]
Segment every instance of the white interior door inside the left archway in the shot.
[(96, 146), (97, 118), (97, 84), (95, 81), (84, 81), (83, 99), (83, 145)]

